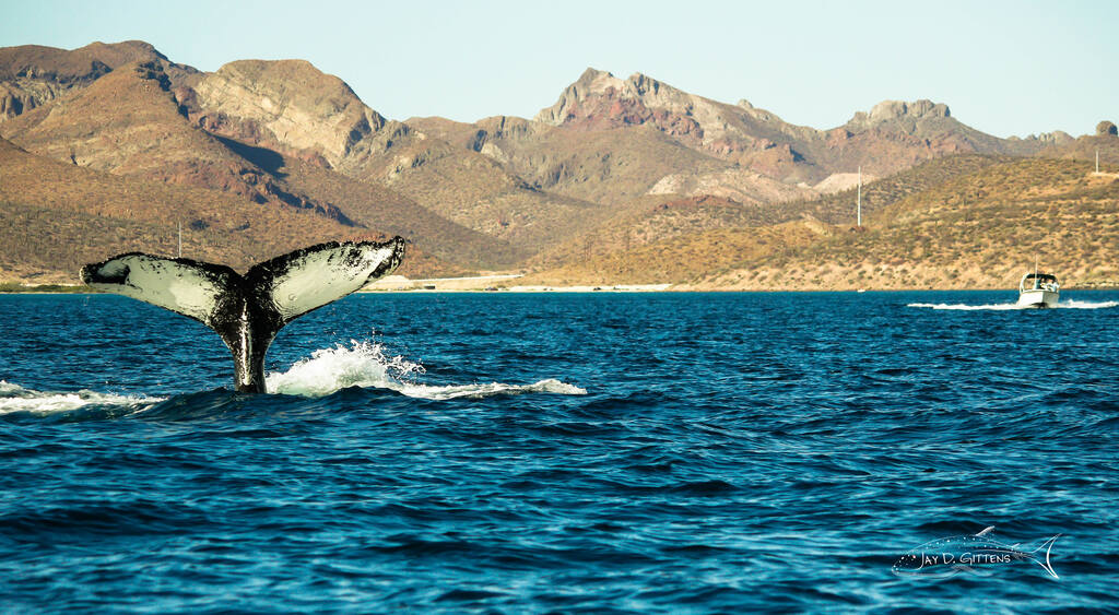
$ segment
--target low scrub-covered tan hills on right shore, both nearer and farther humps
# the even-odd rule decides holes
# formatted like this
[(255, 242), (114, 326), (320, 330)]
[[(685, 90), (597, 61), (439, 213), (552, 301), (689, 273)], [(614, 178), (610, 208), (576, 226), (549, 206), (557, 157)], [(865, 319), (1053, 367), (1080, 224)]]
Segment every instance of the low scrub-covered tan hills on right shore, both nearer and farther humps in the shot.
[(811, 216), (768, 225), (756, 211), (711, 198), (661, 204), (572, 243), (519, 283), (1007, 287), (1037, 255), (1066, 285), (1117, 285), (1119, 176), (1090, 171), (1068, 160), (933, 161), (867, 186), (873, 205), (863, 228)]

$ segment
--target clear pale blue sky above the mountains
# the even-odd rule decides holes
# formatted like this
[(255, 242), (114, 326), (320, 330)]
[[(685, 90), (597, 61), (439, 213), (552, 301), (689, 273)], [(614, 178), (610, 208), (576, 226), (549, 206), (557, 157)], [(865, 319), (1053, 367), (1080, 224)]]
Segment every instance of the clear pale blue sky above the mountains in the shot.
[(303, 58), (405, 120), (532, 117), (587, 66), (829, 129), (892, 98), (998, 136), (1119, 123), (1119, 1), (0, 0), (0, 46)]

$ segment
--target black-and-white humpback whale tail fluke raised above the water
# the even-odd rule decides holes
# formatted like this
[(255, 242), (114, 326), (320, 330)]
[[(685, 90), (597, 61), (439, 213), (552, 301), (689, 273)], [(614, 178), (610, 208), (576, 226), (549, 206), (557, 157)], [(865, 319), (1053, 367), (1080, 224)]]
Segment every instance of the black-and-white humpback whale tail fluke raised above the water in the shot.
[(253, 265), (225, 265), (140, 252), (82, 267), (82, 282), (166, 308), (209, 327), (229, 351), (237, 390), (264, 392), (264, 353), (289, 322), (388, 275), (404, 239), (330, 242)]

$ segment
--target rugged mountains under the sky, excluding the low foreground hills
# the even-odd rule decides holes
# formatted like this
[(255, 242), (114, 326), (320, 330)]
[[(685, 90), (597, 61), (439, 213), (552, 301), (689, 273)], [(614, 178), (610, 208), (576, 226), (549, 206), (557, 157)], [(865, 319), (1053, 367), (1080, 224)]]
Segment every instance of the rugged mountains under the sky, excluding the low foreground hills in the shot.
[[(806, 216), (843, 224), (849, 207), (840, 201), (859, 167), (869, 183), (977, 152), (1084, 158), (1102, 143), (1101, 159), (1112, 155), (1108, 126), (1080, 140), (1002, 140), (921, 100), (885, 101), (817, 130), (744, 100), (593, 68), (534, 120), (474, 123), (385, 119), (303, 60), (200, 73), (139, 41), (0, 49), (0, 88), (10, 94), (0, 97), (0, 135), (36, 155), (392, 229), (473, 268), (577, 259), (586, 249), (571, 246), (594, 237), (630, 237), (633, 249), (638, 236), (642, 245), (658, 234), (681, 242), (670, 230), (677, 223), (698, 233)], [(874, 200), (866, 205), (873, 212)], [(601, 234), (610, 227), (631, 231)]]

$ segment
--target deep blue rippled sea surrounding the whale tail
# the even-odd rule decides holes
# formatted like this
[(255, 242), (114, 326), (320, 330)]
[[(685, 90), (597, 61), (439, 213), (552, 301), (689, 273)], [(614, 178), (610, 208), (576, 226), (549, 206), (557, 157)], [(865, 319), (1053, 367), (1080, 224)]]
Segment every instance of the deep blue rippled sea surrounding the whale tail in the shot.
[(1119, 292), (1015, 294), (352, 295), (256, 396), (0, 295), (0, 611), (1116, 612)]

